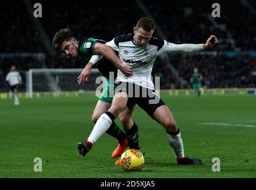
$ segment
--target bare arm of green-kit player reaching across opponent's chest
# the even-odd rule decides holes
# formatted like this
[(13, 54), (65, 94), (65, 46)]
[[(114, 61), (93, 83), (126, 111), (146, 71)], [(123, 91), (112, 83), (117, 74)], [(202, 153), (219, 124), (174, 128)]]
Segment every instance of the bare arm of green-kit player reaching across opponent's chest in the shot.
[(125, 75), (132, 76), (132, 66), (123, 64), (118, 56), (116, 56), (115, 52), (111, 49), (111, 47), (103, 44), (96, 43), (94, 46), (94, 50), (97, 54), (105, 56), (105, 58), (109, 59), (122, 73)]

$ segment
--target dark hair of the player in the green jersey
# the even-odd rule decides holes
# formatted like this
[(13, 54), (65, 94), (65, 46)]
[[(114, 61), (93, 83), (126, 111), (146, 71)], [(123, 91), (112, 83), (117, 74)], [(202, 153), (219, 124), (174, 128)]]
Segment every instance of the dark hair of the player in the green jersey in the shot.
[(52, 46), (55, 49), (60, 49), (61, 44), (64, 41), (70, 40), (72, 37), (73, 37), (73, 34), (72, 34), (71, 30), (69, 30), (69, 29), (61, 29), (53, 37)]

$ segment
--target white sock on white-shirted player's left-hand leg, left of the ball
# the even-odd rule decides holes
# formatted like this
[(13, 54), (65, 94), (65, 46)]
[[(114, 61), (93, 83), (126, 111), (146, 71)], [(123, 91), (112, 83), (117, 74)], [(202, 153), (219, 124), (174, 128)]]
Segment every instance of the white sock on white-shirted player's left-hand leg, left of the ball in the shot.
[(103, 113), (94, 125), (93, 131), (91, 131), (88, 141), (94, 144), (98, 138), (100, 138), (100, 136), (108, 131), (111, 124), (112, 120), (108, 115), (106, 115), (106, 113)]

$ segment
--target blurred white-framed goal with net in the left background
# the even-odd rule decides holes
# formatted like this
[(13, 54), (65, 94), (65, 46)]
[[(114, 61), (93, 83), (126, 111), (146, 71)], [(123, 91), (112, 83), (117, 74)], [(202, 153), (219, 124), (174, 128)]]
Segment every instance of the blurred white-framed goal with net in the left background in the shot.
[(98, 69), (91, 69), (91, 75), (86, 84), (78, 84), (78, 76), (83, 69), (29, 69), (26, 74), (26, 88), (29, 97), (33, 97), (36, 92), (55, 92), (62, 91), (93, 91), (99, 84), (96, 78), (101, 77)]

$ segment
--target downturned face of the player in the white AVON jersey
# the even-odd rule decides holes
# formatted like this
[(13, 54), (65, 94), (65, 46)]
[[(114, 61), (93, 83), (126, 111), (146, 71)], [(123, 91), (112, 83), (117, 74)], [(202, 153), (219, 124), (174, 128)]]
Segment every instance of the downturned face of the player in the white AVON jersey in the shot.
[(143, 47), (147, 45), (148, 41), (151, 39), (154, 30), (145, 31), (143, 28), (134, 27), (134, 42), (139, 46)]

